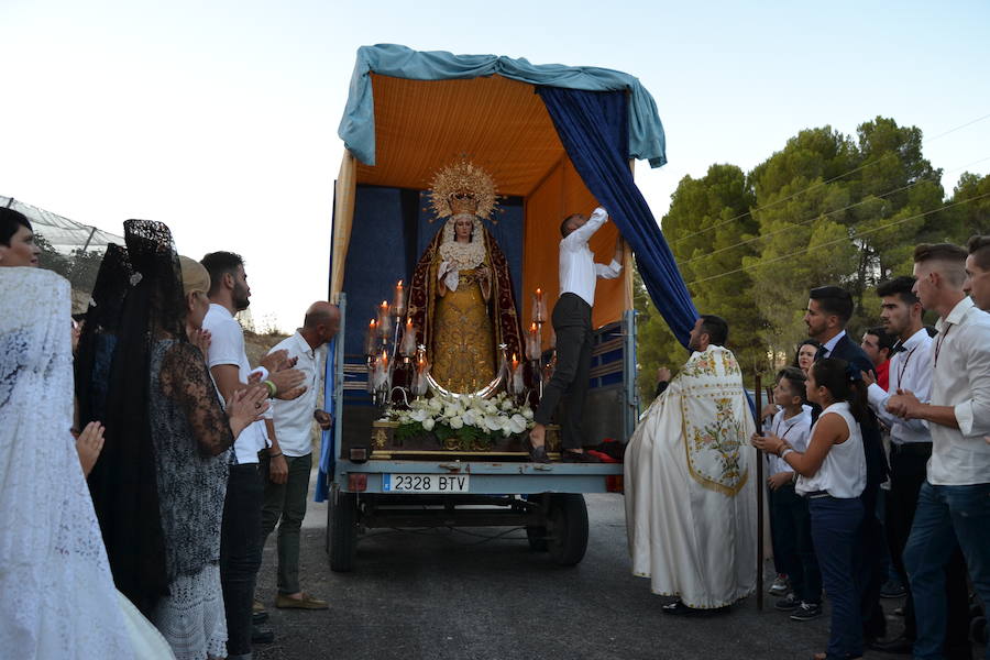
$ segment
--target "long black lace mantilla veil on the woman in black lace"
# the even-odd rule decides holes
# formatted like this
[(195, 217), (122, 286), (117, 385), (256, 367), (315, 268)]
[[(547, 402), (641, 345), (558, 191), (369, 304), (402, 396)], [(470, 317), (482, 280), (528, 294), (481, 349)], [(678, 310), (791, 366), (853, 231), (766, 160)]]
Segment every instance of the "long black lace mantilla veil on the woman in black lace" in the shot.
[[(98, 278), (97, 305), (91, 310), (103, 310), (95, 315), (92, 328), (87, 315), (77, 383), (94, 393), (80, 407), (82, 420), (102, 413), (107, 427), (89, 488), (113, 579), (147, 615), (167, 593), (168, 584), (147, 419), (150, 358), (156, 337), (186, 341), (186, 316), (178, 257), (168, 228), (161, 222), (128, 220), (124, 242), (127, 258), (113, 256), (116, 263), (108, 264), (106, 273), (101, 271), (105, 277)], [(113, 340), (107, 341), (108, 337)], [(106, 361), (108, 352), (112, 355), (105, 375), (97, 358)]]

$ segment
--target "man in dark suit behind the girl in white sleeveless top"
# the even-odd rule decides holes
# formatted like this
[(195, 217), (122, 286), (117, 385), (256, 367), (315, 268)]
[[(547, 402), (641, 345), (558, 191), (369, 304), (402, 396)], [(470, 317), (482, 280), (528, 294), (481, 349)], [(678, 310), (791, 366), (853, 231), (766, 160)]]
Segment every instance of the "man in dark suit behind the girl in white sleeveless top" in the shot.
[[(856, 366), (858, 372), (872, 373), (873, 362), (861, 348), (846, 334), (846, 323), (853, 317), (853, 296), (838, 286), (821, 286), (811, 290), (804, 323), (807, 336), (822, 343), (815, 360), (837, 358)], [(821, 410), (813, 410), (816, 420)], [(867, 484), (860, 496), (864, 507), (860, 528), (859, 586), (862, 595), (864, 638), (868, 645), (887, 635), (887, 619), (880, 607), (880, 587), (883, 584), (882, 565), (887, 556), (883, 526), (877, 517), (877, 498), (880, 484), (887, 481), (888, 465), (880, 439), (880, 425), (871, 416), (869, 424), (860, 425), (864, 453), (867, 463)]]

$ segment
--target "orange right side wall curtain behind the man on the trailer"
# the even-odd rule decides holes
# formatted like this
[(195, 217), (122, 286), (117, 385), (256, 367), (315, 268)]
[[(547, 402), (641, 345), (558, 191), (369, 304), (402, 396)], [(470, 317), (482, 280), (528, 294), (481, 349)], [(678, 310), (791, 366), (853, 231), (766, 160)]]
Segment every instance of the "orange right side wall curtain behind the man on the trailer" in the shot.
[[(526, 197), (526, 238), (522, 252), (522, 300), (521, 318), (524, 331), (532, 322), (532, 293), (543, 289), (547, 310), (560, 296), (559, 250), (560, 223), (571, 213), (590, 215), (597, 201), (584, 186), (571, 162), (564, 157), (551, 173)], [(618, 230), (609, 222), (598, 230), (588, 246), (595, 253), (595, 261), (608, 263), (615, 256), (615, 239)], [(622, 318), (626, 306), (628, 270), (616, 279), (598, 279), (595, 290), (595, 306), (592, 324), (600, 328)], [(548, 346), (550, 333), (543, 333), (543, 346)]]

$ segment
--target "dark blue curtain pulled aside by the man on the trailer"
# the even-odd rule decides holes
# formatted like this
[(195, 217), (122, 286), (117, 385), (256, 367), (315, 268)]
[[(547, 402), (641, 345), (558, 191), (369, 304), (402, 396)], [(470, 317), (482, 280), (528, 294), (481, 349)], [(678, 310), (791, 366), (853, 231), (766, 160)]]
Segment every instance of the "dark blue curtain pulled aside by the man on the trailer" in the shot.
[(650, 298), (674, 337), (686, 346), (698, 315), (623, 153), (628, 132), (626, 95), (560, 87), (539, 87), (537, 91), (584, 185), (632, 246)]

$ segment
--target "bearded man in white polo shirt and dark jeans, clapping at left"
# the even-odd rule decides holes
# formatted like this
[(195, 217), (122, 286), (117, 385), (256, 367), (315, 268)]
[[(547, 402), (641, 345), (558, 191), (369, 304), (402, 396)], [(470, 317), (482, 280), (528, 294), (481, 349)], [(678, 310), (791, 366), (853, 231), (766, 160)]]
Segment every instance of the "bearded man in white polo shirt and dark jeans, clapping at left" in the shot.
[[(232, 252), (212, 252), (200, 262), (210, 274), (210, 309), (202, 321), (210, 333), (207, 364), (220, 393), (229, 400), (234, 392), (246, 387), (252, 369), (244, 351), (244, 331), (234, 315), (250, 305), (251, 287), (244, 273), (244, 261)], [(295, 398), (302, 374), (283, 369), (285, 352), (270, 355), (262, 362), (262, 381), (270, 394), (279, 398)], [(271, 373), (268, 373), (271, 371)], [(228, 660), (250, 660), (251, 642), (272, 641), (271, 630), (252, 635), (251, 606), (254, 583), (261, 568), (261, 527), (264, 483), (258, 472), (258, 453), (271, 457), (271, 471), (285, 481), (288, 470), (277, 442), (268, 446), (263, 421), (255, 421), (241, 431), (231, 452), (232, 464), (223, 503), (220, 530), (220, 583), (227, 610)]]

